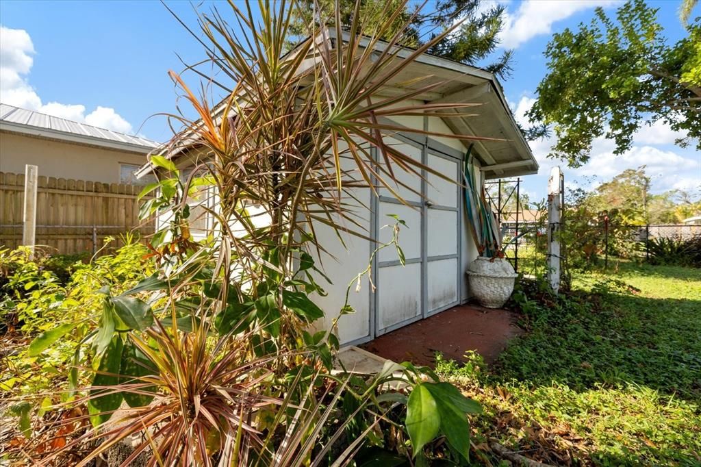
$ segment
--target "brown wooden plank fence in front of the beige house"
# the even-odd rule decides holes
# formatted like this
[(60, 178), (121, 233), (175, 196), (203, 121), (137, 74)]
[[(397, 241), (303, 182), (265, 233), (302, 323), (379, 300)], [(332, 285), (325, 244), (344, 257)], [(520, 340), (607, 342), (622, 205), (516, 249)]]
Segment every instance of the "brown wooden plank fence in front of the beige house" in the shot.
[[(22, 244), (25, 175), (0, 172), (0, 248)], [(39, 177), (36, 194), (36, 245), (65, 255), (95, 252), (113, 236), (109, 250), (123, 245), (128, 231), (154, 232), (139, 220), (142, 187), (55, 177)]]

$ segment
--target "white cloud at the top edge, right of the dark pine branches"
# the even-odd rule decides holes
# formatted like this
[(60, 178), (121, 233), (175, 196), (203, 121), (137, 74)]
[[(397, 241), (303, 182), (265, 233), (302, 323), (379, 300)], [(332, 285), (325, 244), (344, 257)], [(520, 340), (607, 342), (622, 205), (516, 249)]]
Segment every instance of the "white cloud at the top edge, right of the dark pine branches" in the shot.
[(535, 36), (550, 34), (555, 22), (579, 11), (597, 6), (611, 6), (618, 0), (524, 0), (515, 12), (507, 11), (504, 28), (499, 34), (501, 45), (517, 48)]

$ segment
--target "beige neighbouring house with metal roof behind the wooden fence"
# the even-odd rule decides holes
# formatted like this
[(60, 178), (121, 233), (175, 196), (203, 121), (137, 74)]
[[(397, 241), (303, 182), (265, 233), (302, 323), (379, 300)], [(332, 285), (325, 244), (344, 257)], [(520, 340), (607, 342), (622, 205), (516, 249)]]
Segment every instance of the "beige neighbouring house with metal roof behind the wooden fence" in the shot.
[(39, 112), (0, 104), (0, 172), (91, 182), (144, 184), (135, 172), (158, 143)]

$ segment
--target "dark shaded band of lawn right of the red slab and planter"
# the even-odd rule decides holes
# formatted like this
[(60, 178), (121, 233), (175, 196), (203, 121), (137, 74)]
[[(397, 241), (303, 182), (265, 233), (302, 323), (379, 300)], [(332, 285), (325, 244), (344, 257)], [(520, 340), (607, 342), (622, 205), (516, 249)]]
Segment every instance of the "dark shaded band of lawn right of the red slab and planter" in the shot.
[(539, 312), (501, 354), (501, 379), (579, 390), (632, 383), (701, 400), (701, 300), (616, 295)]

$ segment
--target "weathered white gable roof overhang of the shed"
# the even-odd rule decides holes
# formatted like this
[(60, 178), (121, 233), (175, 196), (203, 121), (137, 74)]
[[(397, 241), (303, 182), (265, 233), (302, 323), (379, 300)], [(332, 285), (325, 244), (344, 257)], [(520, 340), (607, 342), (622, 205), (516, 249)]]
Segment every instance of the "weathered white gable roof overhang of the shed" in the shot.
[[(336, 40), (336, 30), (327, 30), (327, 37)], [(343, 32), (341, 40), (348, 40), (348, 32)], [(320, 40), (317, 37), (316, 40)], [(367, 46), (369, 39), (361, 39), (360, 46)], [(388, 47), (388, 43), (376, 43), (374, 48), (381, 53)], [(403, 60), (411, 55), (409, 48), (397, 50), (397, 60)], [(294, 50), (290, 52), (294, 55)], [(306, 60), (308, 66), (313, 66), (314, 59)], [(416, 82), (416, 78), (424, 78)], [(413, 80), (413, 81), (412, 81)], [(409, 83), (409, 84), (407, 84)], [(413, 83), (413, 84), (411, 84)], [(429, 92), (412, 97), (416, 100), (434, 103), (475, 103), (477, 107), (470, 107), (470, 116), (465, 116), (464, 109), (456, 109), (451, 112), (455, 116), (442, 116), (443, 121), (457, 135), (472, 135), (494, 140), (475, 141), (475, 151), (486, 179), (517, 177), (538, 172), (538, 162), (533, 157), (528, 142), (523, 137), (503, 95), (501, 85), (496, 76), (484, 69), (471, 67), (462, 63), (447, 60), (424, 53), (400, 74), (383, 87), (379, 96), (397, 96), (410, 93), (411, 90), (424, 88), (429, 84), (437, 86)], [(225, 102), (220, 103), (213, 114), (219, 114)], [(445, 111), (448, 114), (449, 112)], [(411, 131), (407, 128), (407, 131)], [(182, 135), (188, 137), (187, 130)], [(164, 147), (165, 148), (165, 147)], [(158, 151), (154, 151), (158, 154)], [(179, 153), (161, 151), (161, 154), (169, 158), (176, 158)], [(153, 167), (144, 165), (137, 175), (140, 177), (151, 171)]]

